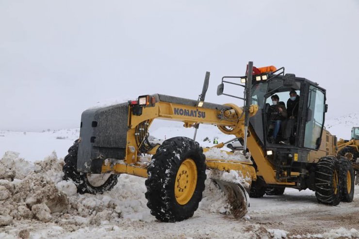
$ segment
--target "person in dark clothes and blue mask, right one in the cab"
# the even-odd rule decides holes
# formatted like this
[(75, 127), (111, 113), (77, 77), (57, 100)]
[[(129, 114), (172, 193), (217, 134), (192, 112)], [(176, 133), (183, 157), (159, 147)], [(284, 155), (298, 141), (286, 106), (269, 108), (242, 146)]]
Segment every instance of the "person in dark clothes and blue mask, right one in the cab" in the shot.
[(298, 118), (299, 96), (294, 90), (289, 93), (289, 96), (287, 101), (288, 120), (282, 125), (283, 140), (279, 142), (282, 144), (290, 144), (289, 138), (295, 134), (296, 129), (294, 128), (294, 123)]

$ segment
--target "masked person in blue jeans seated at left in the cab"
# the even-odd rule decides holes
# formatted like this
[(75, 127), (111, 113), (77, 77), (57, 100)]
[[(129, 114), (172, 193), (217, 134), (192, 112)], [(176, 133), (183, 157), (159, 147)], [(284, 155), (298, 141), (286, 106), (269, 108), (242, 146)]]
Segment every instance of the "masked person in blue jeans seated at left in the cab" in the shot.
[(279, 96), (271, 96), (272, 105), (269, 107), (270, 125), (273, 126), (273, 134), (269, 137), (271, 143), (276, 143), (276, 138), (280, 129), (282, 120), (287, 118), (287, 110), (283, 102), (279, 101)]

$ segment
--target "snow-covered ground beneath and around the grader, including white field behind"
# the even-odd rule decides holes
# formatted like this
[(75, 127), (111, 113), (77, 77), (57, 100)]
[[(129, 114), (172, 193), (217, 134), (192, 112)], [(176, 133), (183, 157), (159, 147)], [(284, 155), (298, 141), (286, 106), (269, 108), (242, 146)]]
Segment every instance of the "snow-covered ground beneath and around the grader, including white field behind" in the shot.
[[(335, 127), (350, 135), (352, 126)], [(194, 130), (157, 126), (150, 133), (159, 139), (192, 138)], [(78, 134), (78, 129), (0, 132), (1, 239), (359, 238), (358, 186), (354, 201), (337, 207), (318, 204), (309, 190), (252, 198), (245, 218), (234, 219), (223, 193), (208, 179), (194, 217), (179, 223), (161, 223), (150, 215), (145, 179), (140, 177), (120, 175), (112, 191), (80, 195), (72, 182), (62, 181), (61, 171), (62, 158)], [(211, 142), (203, 141), (206, 137)], [(214, 137), (219, 142), (232, 138), (215, 127), (200, 126), (199, 143), (210, 146)], [(19, 154), (5, 153), (9, 150)]]

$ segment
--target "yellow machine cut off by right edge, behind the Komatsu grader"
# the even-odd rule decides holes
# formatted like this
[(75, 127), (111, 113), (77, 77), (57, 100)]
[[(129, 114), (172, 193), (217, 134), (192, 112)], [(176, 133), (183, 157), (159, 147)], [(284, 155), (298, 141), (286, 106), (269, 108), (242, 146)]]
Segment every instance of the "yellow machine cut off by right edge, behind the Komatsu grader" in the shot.
[(338, 157), (348, 159), (354, 168), (355, 184), (359, 185), (359, 127), (352, 128), (350, 140), (340, 139), (337, 143)]

